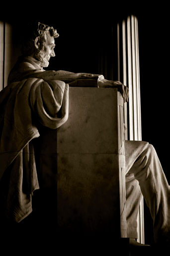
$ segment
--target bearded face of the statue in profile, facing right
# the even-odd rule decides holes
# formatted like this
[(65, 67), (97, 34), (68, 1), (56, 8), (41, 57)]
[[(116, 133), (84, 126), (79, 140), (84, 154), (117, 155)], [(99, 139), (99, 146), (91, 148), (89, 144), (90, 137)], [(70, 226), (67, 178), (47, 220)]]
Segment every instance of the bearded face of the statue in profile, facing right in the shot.
[(54, 37), (50, 35), (49, 31), (45, 31), (46, 39), (47, 41), (44, 43), (44, 49), (41, 51), (41, 66), (42, 67), (48, 67), (50, 57), (55, 56), (54, 47), (55, 47), (55, 41)]

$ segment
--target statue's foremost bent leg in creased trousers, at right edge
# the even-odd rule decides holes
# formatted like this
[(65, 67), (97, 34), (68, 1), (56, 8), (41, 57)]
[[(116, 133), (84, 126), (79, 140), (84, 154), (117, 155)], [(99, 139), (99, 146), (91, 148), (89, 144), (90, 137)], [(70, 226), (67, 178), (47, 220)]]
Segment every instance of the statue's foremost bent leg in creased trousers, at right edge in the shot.
[[(135, 153), (134, 153), (135, 154)], [(142, 194), (150, 209), (154, 222), (155, 242), (168, 238), (168, 195), (169, 185), (154, 147), (150, 144), (141, 150), (130, 168), (138, 180)]]

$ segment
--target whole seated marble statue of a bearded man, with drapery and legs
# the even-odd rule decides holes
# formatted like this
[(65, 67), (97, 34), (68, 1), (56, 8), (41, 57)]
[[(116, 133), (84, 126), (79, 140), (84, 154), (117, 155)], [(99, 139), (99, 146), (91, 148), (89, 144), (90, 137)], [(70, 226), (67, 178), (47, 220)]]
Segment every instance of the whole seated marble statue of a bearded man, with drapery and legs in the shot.
[[(0, 92), (0, 184), (10, 170), (9, 182), (14, 185), (7, 193), (6, 216), (15, 222), (31, 213), (31, 197), (33, 191), (39, 189), (32, 144), (32, 139), (39, 133), (32, 120), (32, 111), (44, 126), (60, 127), (68, 118), (69, 86), (84, 87), (89, 80), (94, 87), (117, 88), (124, 102), (128, 101), (128, 87), (119, 81), (106, 80), (103, 75), (45, 71), (43, 68), (55, 56), (55, 38), (58, 36), (53, 27), (30, 24), (23, 39), (22, 55), (9, 74), (7, 87)], [(153, 219), (155, 243), (170, 244), (170, 187), (154, 147), (143, 141), (125, 141), (125, 157), (130, 243), (140, 245), (136, 242), (137, 214), (143, 195)], [(24, 192), (20, 190), (23, 168), (27, 174)]]

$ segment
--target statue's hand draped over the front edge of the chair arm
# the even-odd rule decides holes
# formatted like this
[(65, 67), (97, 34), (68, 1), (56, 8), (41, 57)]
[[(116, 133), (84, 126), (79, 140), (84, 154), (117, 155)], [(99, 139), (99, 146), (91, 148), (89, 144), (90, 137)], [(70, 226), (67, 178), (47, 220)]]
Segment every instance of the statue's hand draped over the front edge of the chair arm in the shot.
[(117, 90), (121, 93), (124, 102), (128, 102), (129, 100), (129, 89), (127, 86), (122, 84), (120, 81), (110, 81), (106, 79), (98, 79), (98, 86), (105, 88), (117, 88)]

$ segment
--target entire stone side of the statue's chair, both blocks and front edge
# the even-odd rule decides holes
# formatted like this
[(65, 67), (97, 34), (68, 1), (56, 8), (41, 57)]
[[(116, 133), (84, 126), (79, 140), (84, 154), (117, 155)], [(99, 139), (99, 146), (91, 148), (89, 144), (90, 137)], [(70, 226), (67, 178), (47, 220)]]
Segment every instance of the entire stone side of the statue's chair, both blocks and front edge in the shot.
[(126, 237), (123, 99), (117, 90), (71, 87), (69, 119), (57, 130), (56, 150), (58, 232)]

